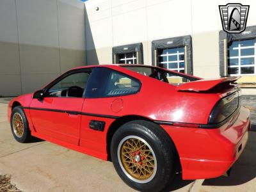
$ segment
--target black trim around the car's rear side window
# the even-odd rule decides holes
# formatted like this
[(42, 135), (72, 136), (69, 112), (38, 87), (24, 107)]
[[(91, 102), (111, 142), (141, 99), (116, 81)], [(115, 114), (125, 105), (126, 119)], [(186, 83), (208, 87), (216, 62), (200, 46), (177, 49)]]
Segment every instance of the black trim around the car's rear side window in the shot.
[[(124, 64), (125, 65), (125, 64)], [(85, 99), (100, 99), (100, 98), (109, 98), (109, 97), (124, 97), (124, 96), (128, 96), (128, 95), (136, 95), (137, 93), (140, 93), (141, 91), (141, 87), (142, 87), (142, 83), (139, 79), (135, 78), (135, 77), (132, 77), (132, 76), (129, 76), (128, 74), (125, 74), (124, 72), (120, 72), (119, 70), (115, 70), (113, 68), (109, 68), (109, 67), (93, 67), (93, 70), (95, 68), (108, 68), (109, 70), (113, 70), (115, 72), (118, 72), (119, 74), (123, 74), (124, 76), (127, 76), (131, 79), (133, 79), (134, 81), (138, 82), (140, 88), (138, 89), (137, 92), (133, 92), (133, 93), (124, 93), (124, 94), (120, 94), (120, 95), (111, 95), (111, 96), (105, 96), (105, 97), (85, 97), (85, 92), (86, 92), (86, 88), (84, 89), (84, 98)], [(88, 80), (88, 83), (90, 83), (90, 79)]]

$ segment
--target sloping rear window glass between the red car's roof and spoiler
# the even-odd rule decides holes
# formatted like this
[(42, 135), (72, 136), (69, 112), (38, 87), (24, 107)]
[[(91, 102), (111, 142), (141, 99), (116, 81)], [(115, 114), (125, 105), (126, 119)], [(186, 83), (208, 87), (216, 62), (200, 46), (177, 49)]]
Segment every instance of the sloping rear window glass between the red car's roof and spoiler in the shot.
[(157, 67), (141, 67), (141, 66), (122, 66), (134, 72), (138, 72), (144, 76), (152, 77), (154, 79), (158, 79), (159, 81), (163, 81), (166, 83), (170, 83), (173, 85), (179, 85), (183, 83), (187, 83), (190, 81), (199, 80), (196, 77), (186, 76), (186, 74), (179, 74), (175, 72), (170, 72), (168, 70), (164, 70), (164, 68)]

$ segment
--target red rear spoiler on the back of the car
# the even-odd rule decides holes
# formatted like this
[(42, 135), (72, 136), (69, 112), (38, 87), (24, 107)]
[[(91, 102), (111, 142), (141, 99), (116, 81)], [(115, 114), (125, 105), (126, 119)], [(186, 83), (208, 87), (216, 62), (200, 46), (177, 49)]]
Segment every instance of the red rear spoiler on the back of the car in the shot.
[(181, 84), (177, 86), (175, 90), (184, 91), (184, 92), (207, 92), (220, 85), (228, 85), (234, 83), (240, 77), (225, 77), (221, 79), (202, 79), (198, 81), (191, 81), (188, 83)]

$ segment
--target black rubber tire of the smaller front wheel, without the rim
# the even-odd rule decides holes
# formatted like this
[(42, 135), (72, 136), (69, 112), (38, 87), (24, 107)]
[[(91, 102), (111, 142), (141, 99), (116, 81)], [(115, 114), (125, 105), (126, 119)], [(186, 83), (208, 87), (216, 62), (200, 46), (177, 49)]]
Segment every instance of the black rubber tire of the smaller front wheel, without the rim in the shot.
[[(23, 133), (20, 136), (18, 136), (18, 134), (15, 133), (15, 129), (13, 127), (13, 116), (15, 114), (20, 115), (20, 117), (22, 118), (23, 125), (24, 125)], [(30, 132), (30, 129), (29, 129), (28, 120), (27, 120), (26, 115), (25, 115), (21, 106), (17, 106), (17, 107), (12, 109), (11, 129), (12, 129), (13, 137), (15, 138), (15, 140), (19, 141), (20, 143), (28, 143), (33, 138), (31, 136), (31, 132)]]

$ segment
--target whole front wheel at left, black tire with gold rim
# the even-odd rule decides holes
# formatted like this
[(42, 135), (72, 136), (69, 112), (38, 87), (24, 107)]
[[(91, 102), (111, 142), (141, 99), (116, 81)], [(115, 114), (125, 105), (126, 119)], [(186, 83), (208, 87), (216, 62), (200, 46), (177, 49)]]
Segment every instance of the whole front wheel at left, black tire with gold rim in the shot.
[(33, 138), (29, 129), (28, 120), (21, 106), (12, 109), (11, 128), (13, 137), (20, 143), (28, 143)]

